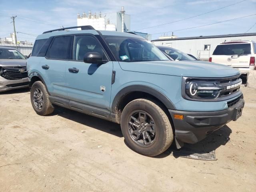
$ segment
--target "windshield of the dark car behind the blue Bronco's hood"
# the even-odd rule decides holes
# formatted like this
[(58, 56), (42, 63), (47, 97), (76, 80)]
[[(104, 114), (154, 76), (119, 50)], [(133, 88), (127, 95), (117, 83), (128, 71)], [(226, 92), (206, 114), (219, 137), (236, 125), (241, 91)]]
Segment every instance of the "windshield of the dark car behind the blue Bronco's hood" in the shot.
[(167, 48), (159, 47), (159, 49), (162, 50), (163, 52), (165, 52), (166, 54), (168, 54), (174, 60), (179, 60), (179, 61), (184, 61), (184, 60), (194, 61), (195, 60), (194, 58), (190, 57), (186, 53), (184, 53), (180, 50), (177, 50), (177, 49), (168, 48), (168, 47)]

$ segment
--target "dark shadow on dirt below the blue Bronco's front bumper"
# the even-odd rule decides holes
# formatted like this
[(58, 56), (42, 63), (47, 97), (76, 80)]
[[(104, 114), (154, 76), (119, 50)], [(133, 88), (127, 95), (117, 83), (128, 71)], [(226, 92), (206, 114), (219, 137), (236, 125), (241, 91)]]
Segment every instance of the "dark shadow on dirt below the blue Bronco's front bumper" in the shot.
[[(172, 144), (166, 152), (156, 156), (155, 158), (164, 158), (172, 154), (175, 158), (180, 157), (180, 154), (184, 156), (190, 156), (192, 154), (205, 154), (216, 150), (218, 147), (225, 145), (230, 140), (230, 134), (232, 130), (227, 126), (224, 125), (219, 130), (214, 131), (204, 140), (196, 143), (196, 144), (185, 144), (179, 150), (176, 148), (175, 144)], [(184, 152), (182, 152), (184, 150)]]

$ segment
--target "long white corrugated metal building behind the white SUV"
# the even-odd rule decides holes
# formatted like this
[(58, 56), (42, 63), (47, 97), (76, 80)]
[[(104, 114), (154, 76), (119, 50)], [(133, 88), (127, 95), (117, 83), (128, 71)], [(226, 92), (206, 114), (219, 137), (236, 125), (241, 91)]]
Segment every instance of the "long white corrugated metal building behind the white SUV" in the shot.
[(156, 39), (152, 40), (152, 43), (156, 46), (170, 46), (200, 60), (208, 60), (219, 43), (241, 40), (256, 42), (256, 33)]

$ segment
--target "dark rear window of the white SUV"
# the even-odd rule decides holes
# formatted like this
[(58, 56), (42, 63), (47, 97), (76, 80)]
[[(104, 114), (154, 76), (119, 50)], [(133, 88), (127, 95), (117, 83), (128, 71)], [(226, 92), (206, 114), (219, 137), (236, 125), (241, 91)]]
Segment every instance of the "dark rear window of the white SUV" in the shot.
[(250, 43), (222, 44), (218, 45), (213, 55), (246, 55), (251, 54)]

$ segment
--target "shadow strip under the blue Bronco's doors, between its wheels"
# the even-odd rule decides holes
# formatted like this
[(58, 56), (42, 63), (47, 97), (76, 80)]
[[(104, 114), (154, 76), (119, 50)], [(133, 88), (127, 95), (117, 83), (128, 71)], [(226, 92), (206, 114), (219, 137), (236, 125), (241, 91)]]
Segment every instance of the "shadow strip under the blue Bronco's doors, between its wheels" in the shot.
[(90, 115), (86, 115), (80, 112), (76, 112), (70, 109), (55, 107), (54, 113), (50, 116), (59, 115), (61, 117), (67, 118), (74, 122), (98, 129), (100, 131), (106, 132), (108, 134), (112, 134), (114, 136), (122, 138), (122, 131), (119, 124), (114, 122), (110, 122), (104, 119), (100, 119), (97, 117), (93, 117)]

